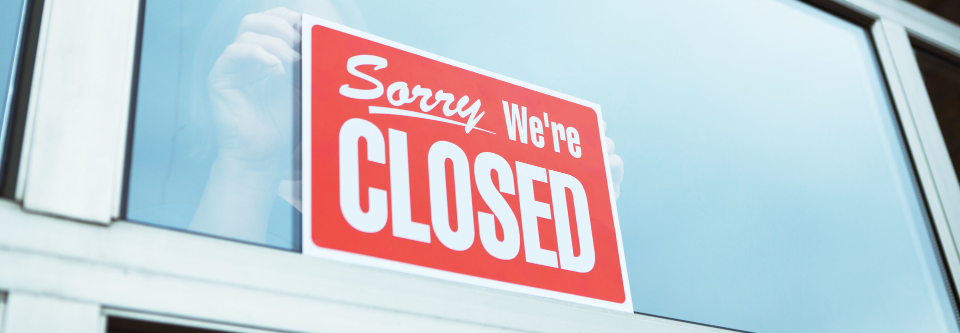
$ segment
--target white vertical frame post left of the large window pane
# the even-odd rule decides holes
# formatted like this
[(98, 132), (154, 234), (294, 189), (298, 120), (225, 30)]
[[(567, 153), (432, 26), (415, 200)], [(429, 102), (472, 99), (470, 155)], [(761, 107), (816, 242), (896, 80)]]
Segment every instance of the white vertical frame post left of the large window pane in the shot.
[(120, 212), (138, 0), (46, 0), (16, 198), (107, 224)]

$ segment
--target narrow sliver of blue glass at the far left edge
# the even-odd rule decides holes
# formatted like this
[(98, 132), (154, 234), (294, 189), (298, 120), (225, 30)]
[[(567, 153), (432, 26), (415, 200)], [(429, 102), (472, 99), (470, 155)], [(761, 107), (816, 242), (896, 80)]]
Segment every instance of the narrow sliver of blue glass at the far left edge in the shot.
[(0, 0), (0, 161), (10, 119), (13, 73), (23, 24), (24, 0)]

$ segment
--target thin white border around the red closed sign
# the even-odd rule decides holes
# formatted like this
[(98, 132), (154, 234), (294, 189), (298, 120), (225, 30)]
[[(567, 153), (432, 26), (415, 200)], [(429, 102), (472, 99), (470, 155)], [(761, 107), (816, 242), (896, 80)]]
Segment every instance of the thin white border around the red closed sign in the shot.
[(312, 235), (311, 225), (313, 221), (313, 207), (311, 206), (313, 175), (311, 174), (312, 161), (310, 159), (311, 157), (310, 153), (312, 152), (311, 140), (310, 140), (311, 138), (310, 133), (312, 132), (311, 131), (312, 130), (311, 129), (311, 120), (312, 120), (311, 119), (311, 110), (312, 110), (312, 107), (311, 107), (312, 85), (311, 84), (312, 82), (310, 80), (311, 76), (309, 73), (312, 72), (310, 59), (313, 59), (312, 58), (313, 57), (313, 54), (312, 54), (313, 38), (311, 36), (313, 34), (312, 28), (315, 25), (324, 26), (326, 28), (330, 28), (342, 33), (346, 33), (348, 35), (358, 36), (364, 39), (371, 40), (376, 43), (380, 43), (386, 46), (399, 49), (401, 51), (415, 54), (427, 59), (433, 59), (440, 62), (444, 62), (446, 64), (460, 67), (462, 69), (466, 69), (468, 71), (471, 71), (477, 74), (485, 75), (496, 80), (500, 80), (506, 83), (516, 84), (534, 91), (538, 91), (540, 93), (544, 93), (544, 94), (554, 96), (569, 102), (590, 107), (596, 112), (597, 124), (603, 124), (603, 116), (600, 111), (600, 106), (597, 104), (590, 103), (588, 101), (584, 101), (579, 98), (569, 96), (557, 91), (553, 91), (538, 85), (525, 83), (513, 78), (492, 73), (490, 71), (477, 68), (456, 60), (446, 59), (444, 57), (437, 56), (411, 46), (400, 44), (393, 40), (389, 40), (379, 36), (373, 36), (371, 34), (368, 34), (353, 28), (349, 28), (347, 26), (344, 26), (338, 23), (327, 21), (319, 17), (303, 14), (302, 24), (301, 24), (301, 35), (300, 35), (301, 36), (301, 41), (300, 41), (300, 45), (301, 45), (300, 46), (300, 55), (301, 55), (300, 57), (301, 59), (301, 63), (300, 63), (300, 73), (301, 73), (300, 74), (300, 82), (301, 82), (301, 86), (300, 86), (300, 91), (301, 91), (300, 92), (300, 95), (301, 95), (300, 97), (301, 99), (300, 173), (302, 177), (300, 183), (302, 184), (301, 212), (303, 214), (303, 217), (301, 222), (302, 229), (300, 231), (300, 235), (301, 235), (301, 241), (302, 241), (301, 249), (304, 255), (317, 256), (321, 258), (343, 261), (348, 263), (356, 263), (360, 265), (372, 266), (376, 268), (387, 269), (387, 270), (397, 271), (397, 272), (402, 272), (407, 274), (417, 274), (417, 275), (423, 275), (428, 277), (440, 278), (440, 279), (449, 280), (449, 281), (468, 283), (472, 285), (489, 287), (489, 288), (516, 292), (521, 294), (560, 299), (565, 301), (571, 301), (571, 302), (576, 302), (581, 304), (608, 308), (612, 310), (618, 310), (618, 311), (624, 311), (624, 312), (630, 312), (630, 313), (634, 312), (633, 299), (631, 298), (631, 294), (630, 294), (630, 280), (627, 278), (627, 263), (626, 263), (626, 259), (624, 257), (624, 251), (623, 251), (623, 240), (622, 240), (621, 231), (620, 231), (620, 219), (616, 210), (616, 197), (613, 194), (613, 180), (612, 180), (613, 178), (610, 170), (610, 160), (609, 160), (610, 157), (607, 153), (607, 140), (605, 139), (606, 133), (604, 132), (605, 129), (603, 128), (603, 126), (599, 127), (600, 142), (601, 142), (601, 146), (603, 147), (604, 166), (606, 167), (605, 169), (607, 173), (607, 188), (610, 190), (610, 201), (612, 206), (611, 208), (612, 208), (612, 216), (613, 216), (613, 229), (616, 233), (616, 247), (617, 247), (617, 250), (619, 251), (618, 254), (620, 258), (620, 273), (621, 273), (621, 278), (623, 279), (624, 296), (626, 297), (623, 303), (616, 303), (608, 300), (602, 300), (602, 299), (591, 298), (591, 297), (583, 297), (583, 296), (567, 294), (563, 292), (557, 292), (557, 291), (552, 291), (552, 290), (542, 289), (537, 287), (525, 286), (525, 285), (520, 285), (516, 283), (511, 283), (511, 282), (504, 282), (504, 281), (489, 279), (485, 277), (478, 277), (478, 276), (473, 276), (468, 274), (447, 272), (439, 269), (433, 269), (433, 268), (428, 268), (424, 266), (408, 264), (408, 263), (403, 263), (399, 261), (394, 261), (390, 259), (384, 259), (384, 258), (379, 258), (379, 257), (374, 257), (374, 256), (369, 256), (364, 254), (352, 253), (352, 252), (343, 251), (343, 250), (325, 249), (314, 244), (313, 237), (311, 237)]

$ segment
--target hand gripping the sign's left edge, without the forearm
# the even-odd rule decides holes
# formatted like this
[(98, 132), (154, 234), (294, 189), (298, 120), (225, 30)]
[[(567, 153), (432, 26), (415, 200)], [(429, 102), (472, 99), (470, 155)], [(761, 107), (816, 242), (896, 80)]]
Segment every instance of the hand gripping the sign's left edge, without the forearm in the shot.
[(280, 7), (244, 16), (207, 76), (219, 162), (267, 174), (290, 163), (299, 49), (299, 12)]

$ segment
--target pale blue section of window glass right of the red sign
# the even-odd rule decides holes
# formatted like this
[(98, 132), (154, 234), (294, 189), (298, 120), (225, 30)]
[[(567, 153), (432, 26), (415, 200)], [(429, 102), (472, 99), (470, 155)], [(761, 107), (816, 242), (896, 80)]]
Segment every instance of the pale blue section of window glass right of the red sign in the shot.
[(957, 331), (864, 29), (792, 0), (358, 6), (374, 35), (603, 107), (637, 312)]

